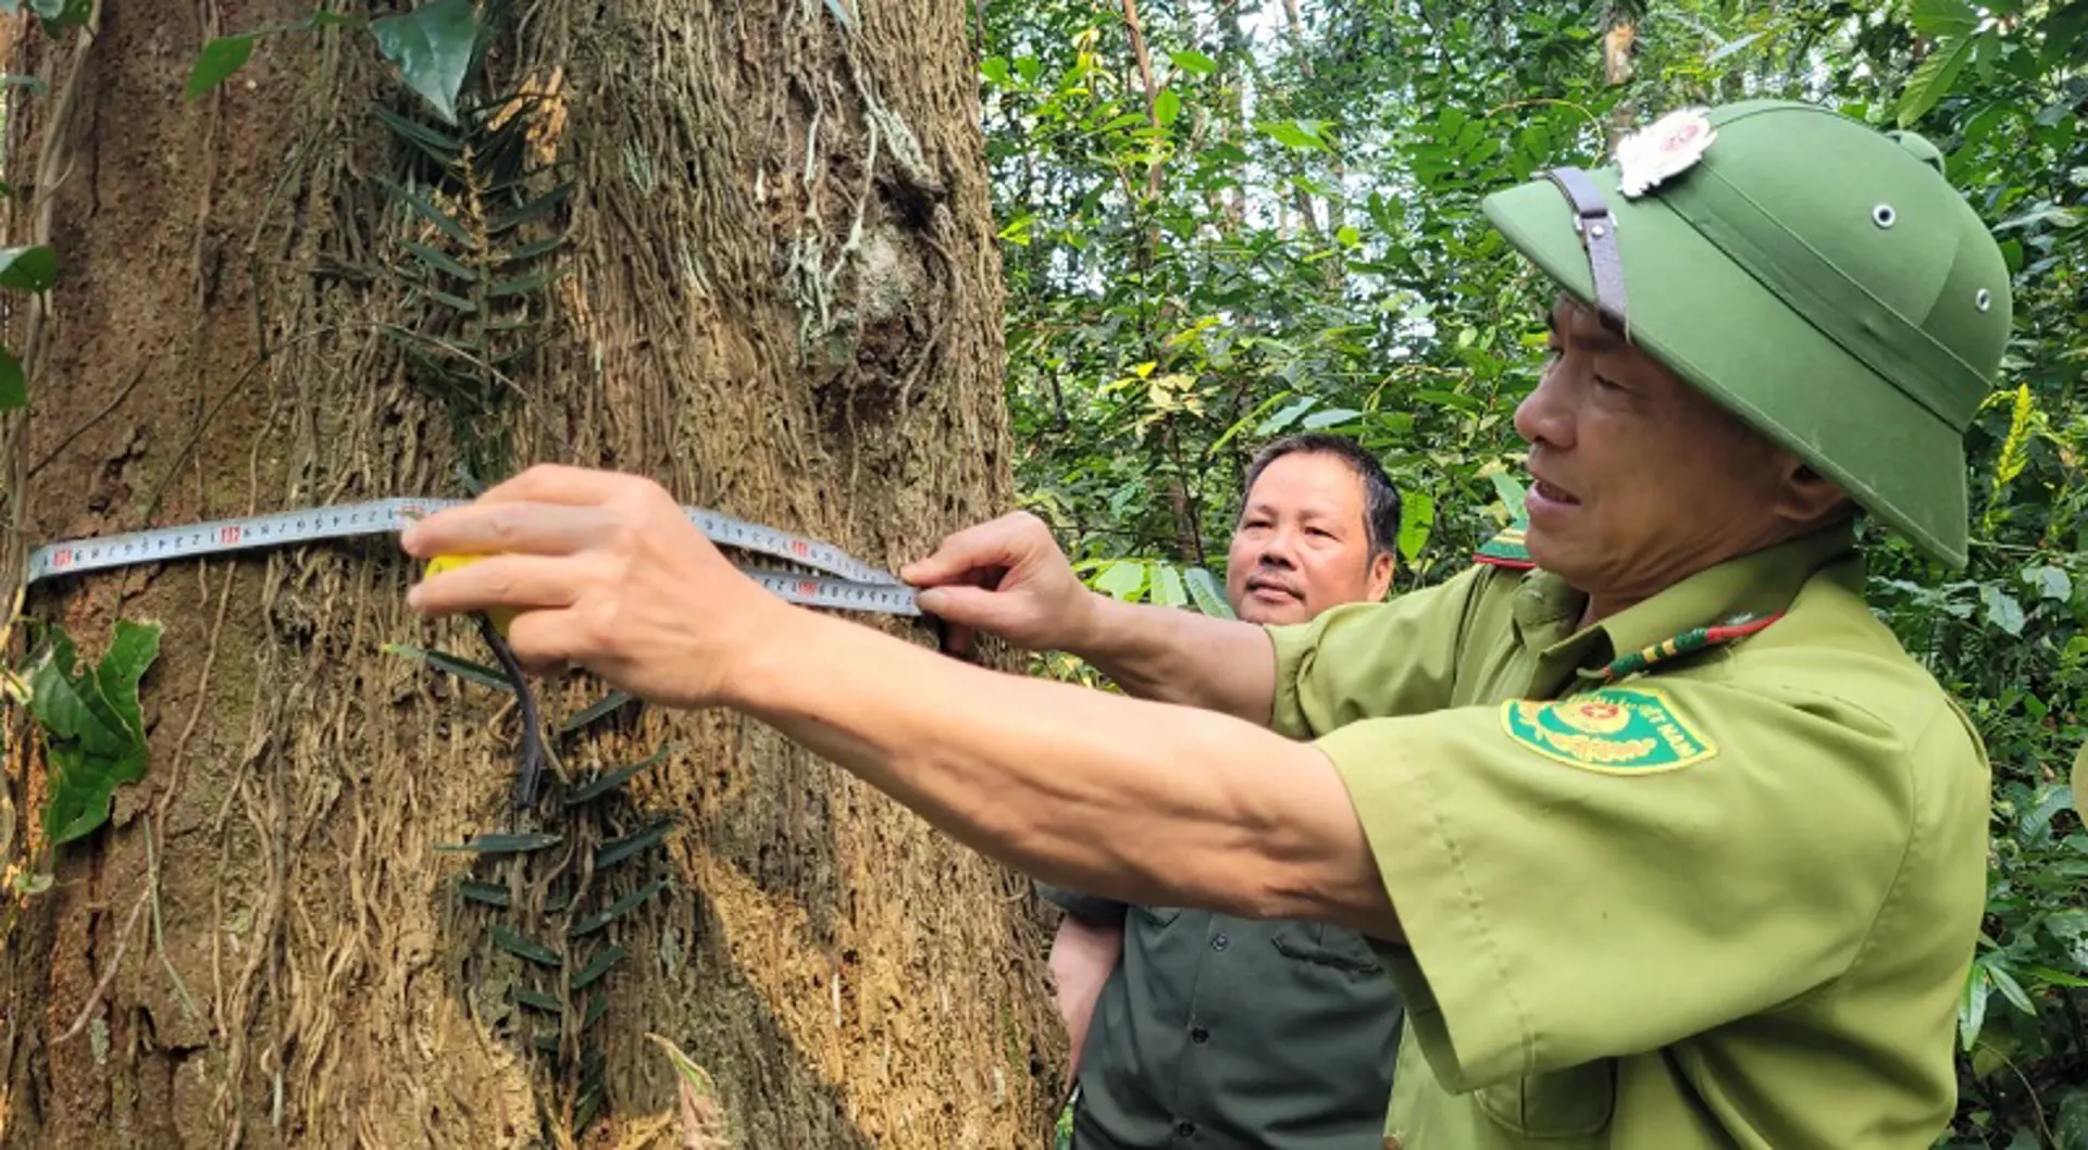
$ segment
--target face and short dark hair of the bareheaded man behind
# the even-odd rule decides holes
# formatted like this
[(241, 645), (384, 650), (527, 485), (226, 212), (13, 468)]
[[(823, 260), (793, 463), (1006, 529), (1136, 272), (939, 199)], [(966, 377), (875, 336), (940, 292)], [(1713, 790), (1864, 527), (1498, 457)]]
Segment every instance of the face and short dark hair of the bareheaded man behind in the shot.
[(1307, 622), (1380, 599), (1393, 557), (1370, 555), (1363, 480), (1338, 455), (1274, 459), (1247, 493), (1226, 564), (1226, 599), (1253, 624)]

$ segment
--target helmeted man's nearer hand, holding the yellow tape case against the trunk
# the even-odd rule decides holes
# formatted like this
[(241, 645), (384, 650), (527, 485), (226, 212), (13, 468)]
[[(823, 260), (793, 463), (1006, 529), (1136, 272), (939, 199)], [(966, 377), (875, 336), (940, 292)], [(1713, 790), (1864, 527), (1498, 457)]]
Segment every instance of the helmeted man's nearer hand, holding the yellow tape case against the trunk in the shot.
[(399, 543), (418, 559), (487, 555), (413, 586), (422, 616), (512, 607), (526, 668), (583, 666), (662, 705), (731, 701), (735, 664), (789, 609), (637, 476), (530, 468)]

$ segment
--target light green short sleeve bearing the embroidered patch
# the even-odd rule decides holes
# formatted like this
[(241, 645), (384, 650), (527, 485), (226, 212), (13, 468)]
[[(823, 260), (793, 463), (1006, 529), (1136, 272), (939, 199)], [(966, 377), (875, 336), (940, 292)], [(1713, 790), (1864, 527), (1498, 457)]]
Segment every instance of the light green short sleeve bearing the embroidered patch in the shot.
[(1683, 678), (1366, 720), (1318, 745), (1399, 914), (1386, 958), (1416, 1039), (1453, 1092), (1829, 983), (1908, 849), (1906, 764), (1977, 756), (1956, 722), (1896, 735), (1835, 699)]

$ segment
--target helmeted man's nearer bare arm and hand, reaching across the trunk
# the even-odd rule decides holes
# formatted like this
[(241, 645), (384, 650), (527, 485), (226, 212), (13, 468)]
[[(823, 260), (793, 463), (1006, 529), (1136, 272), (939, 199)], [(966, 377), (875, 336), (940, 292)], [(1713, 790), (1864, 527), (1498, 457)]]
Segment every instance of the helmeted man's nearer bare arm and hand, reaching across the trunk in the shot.
[(509, 645), (526, 664), (754, 714), (1048, 883), (1399, 937), (1347, 789), (1315, 747), (789, 607), (651, 482), (532, 470), (416, 524), (403, 545), (499, 553), (418, 584), (422, 614), (516, 607)]

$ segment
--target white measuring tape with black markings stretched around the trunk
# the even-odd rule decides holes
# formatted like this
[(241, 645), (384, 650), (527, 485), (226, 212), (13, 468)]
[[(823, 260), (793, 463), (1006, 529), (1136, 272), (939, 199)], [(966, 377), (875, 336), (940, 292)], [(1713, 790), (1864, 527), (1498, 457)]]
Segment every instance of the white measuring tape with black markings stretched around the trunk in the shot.
[[(232, 551), (253, 551), (259, 547), (288, 547), (294, 543), (319, 543), (326, 538), (349, 538), (359, 534), (401, 532), (413, 520), (426, 518), (445, 507), (457, 507), (464, 499), (374, 499), (370, 503), (340, 503), (332, 507), (307, 507), (301, 511), (269, 511), (236, 520), (211, 520), (177, 528), (150, 528), (125, 534), (104, 534), (94, 538), (69, 538), (38, 547), (29, 555), (27, 582), (42, 578), (98, 572), (106, 568), (127, 568), (134, 564), (159, 564), (165, 559), (196, 559), (203, 555), (223, 555)], [(887, 616), (919, 616), (915, 589), (898, 578), (856, 559), (831, 543), (777, 530), (766, 524), (750, 524), (733, 516), (710, 511), (708, 507), (683, 507), (689, 522), (718, 547), (733, 547), (768, 555), (816, 574), (800, 574), (777, 568), (737, 566), (748, 578), (766, 586), (773, 595), (806, 607), (835, 607), (844, 612), (877, 612)]]

